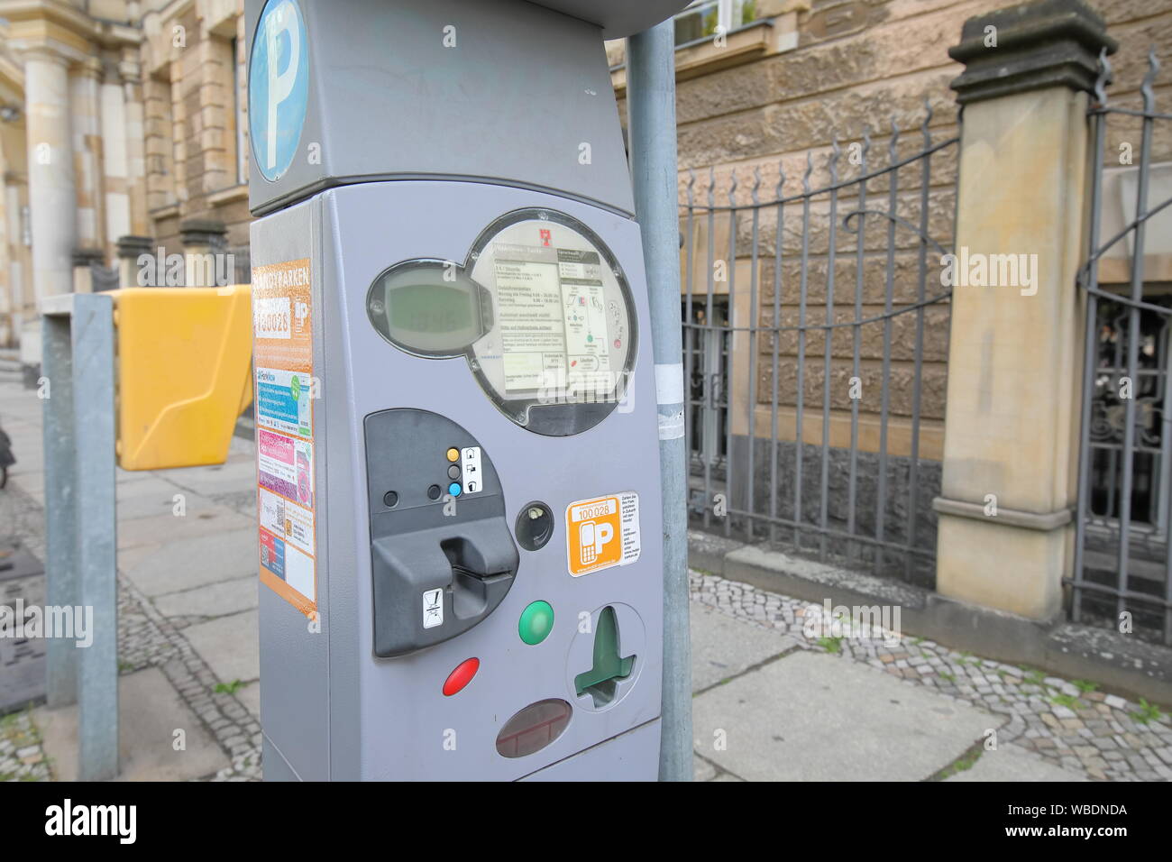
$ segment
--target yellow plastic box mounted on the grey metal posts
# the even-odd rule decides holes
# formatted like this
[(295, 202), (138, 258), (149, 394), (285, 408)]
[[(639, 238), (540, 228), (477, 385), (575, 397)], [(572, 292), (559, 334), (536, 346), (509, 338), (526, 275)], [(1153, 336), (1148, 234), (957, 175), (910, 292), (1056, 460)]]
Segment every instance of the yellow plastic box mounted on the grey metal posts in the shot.
[(252, 287), (110, 291), (117, 349), (118, 464), (224, 463), (252, 403)]

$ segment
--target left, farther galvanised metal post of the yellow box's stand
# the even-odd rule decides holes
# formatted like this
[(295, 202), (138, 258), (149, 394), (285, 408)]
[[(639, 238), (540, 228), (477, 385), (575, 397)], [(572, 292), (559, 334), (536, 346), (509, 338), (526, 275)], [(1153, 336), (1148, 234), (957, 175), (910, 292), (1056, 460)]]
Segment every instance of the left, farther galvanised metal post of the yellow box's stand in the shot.
[[(74, 459), (73, 347), (68, 314), (41, 318), (41, 386), (45, 407), (45, 588), (50, 608), (73, 608), (77, 597), (77, 463)], [(43, 388), (45, 386), (48, 388)], [(77, 701), (77, 650), (48, 638), (45, 688), (50, 708)]]

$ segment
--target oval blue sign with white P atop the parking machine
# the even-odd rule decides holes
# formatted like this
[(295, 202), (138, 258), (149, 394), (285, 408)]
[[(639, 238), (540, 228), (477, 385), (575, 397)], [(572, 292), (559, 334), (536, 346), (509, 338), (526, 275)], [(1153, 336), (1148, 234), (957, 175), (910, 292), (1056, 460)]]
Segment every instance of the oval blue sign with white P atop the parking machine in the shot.
[(297, 0), (268, 0), (260, 13), (248, 63), (252, 154), (265, 179), (293, 163), (305, 125), (309, 55)]

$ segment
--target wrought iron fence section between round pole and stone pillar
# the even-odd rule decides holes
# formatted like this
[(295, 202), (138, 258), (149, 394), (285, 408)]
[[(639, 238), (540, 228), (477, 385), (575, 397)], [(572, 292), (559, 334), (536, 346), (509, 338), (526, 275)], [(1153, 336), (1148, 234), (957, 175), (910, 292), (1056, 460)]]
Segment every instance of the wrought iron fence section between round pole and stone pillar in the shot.
[(885, 159), (868, 130), (845, 157), (836, 138), (818, 188), (810, 152), (800, 191), (779, 162), (764, 202), (759, 167), (722, 191), (689, 172), (681, 272), (694, 525), (933, 586), (950, 297), (933, 235), (950, 244), (958, 138), (933, 141), (926, 108), (918, 136), (892, 118)]

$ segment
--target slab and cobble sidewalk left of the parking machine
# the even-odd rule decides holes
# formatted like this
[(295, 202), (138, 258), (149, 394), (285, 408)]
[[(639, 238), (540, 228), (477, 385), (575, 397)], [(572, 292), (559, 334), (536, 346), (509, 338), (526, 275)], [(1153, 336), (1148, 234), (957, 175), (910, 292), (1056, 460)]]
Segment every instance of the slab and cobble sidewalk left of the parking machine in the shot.
[[(43, 559), (40, 408), (34, 393), (0, 382), (0, 425), (18, 457), (0, 525)], [(223, 466), (117, 471), (125, 779), (260, 778), (254, 469), (252, 442), (237, 439)], [(70, 779), (75, 763), (75, 707), (0, 720), (0, 778)]]

